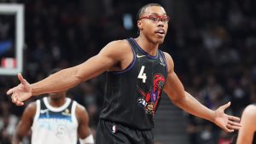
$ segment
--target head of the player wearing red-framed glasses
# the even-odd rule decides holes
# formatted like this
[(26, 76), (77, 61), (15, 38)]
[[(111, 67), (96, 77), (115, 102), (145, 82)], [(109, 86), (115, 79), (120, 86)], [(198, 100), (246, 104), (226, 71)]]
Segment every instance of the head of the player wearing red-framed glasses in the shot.
[(159, 6), (145, 9), (137, 21), (141, 34), (153, 43), (163, 43), (168, 29), (169, 16), (166, 10)]

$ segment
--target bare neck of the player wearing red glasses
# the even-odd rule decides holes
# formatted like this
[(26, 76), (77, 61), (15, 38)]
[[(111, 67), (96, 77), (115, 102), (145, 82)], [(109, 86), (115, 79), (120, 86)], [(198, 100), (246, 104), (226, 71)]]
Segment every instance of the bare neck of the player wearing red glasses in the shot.
[(137, 44), (148, 53), (148, 55), (155, 56), (157, 55), (157, 50), (159, 47), (158, 43), (152, 43), (150, 42), (146, 37), (139, 36), (135, 38)]

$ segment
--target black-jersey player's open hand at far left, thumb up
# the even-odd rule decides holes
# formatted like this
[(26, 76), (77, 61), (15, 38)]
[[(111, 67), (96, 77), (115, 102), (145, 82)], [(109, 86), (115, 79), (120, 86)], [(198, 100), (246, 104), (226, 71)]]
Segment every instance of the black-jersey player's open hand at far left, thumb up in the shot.
[(26, 79), (24, 79), (20, 73), (18, 74), (18, 78), (20, 80), (20, 84), (12, 89), (9, 89), (6, 94), (11, 95), (11, 99), (15, 103), (15, 105), (22, 106), (24, 105), (23, 101), (26, 101), (32, 96), (32, 88), (31, 85), (26, 82)]

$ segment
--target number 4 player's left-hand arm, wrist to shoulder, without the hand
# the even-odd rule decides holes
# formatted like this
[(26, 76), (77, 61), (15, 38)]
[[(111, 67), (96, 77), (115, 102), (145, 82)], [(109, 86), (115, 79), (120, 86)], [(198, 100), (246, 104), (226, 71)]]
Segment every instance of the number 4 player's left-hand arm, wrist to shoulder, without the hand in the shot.
[(32, 84), (32, 95), (67, 90), (85, 80), (95, 78), (119, 60), (119, 57), (115, 56), (118, 46), (119, 42), (108, 43), (98, 55), (91, 57), (84, 63), (56, 72), (49, 78)]

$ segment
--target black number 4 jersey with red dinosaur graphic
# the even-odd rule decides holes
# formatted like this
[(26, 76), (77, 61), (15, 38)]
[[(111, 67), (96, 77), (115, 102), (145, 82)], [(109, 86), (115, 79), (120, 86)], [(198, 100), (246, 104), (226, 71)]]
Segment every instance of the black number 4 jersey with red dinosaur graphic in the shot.
[(148, 55), (133, 38), (127, 40), (133, 60), (123, 71), (107, 72), (100, 118), (137, 130), (151, 130), (166, 81), (166, 58), (160, 50), (156, 56)]

